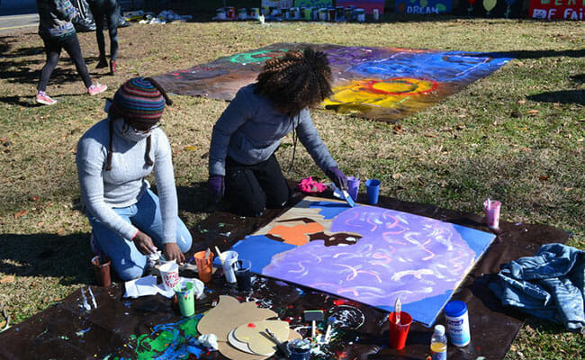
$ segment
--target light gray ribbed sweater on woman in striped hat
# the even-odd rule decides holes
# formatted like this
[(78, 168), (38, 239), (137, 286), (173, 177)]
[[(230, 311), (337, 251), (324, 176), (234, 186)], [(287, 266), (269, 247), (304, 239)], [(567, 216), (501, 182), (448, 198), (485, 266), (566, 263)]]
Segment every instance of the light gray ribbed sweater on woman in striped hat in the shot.
[[(114, 122), (112, 170), (105, 170), (110, 135), (108, 119), (96, 123), (77, 144), (77, 175), (81, 199), (87, 210), (123, 238), (132, 238), (138, 230), (112, 211), (139, 201), (148, 189), (145, 176), (153, 171), (163, 220), (163, 243), (176, 242), (177, 198), (171, 147), (165, 132), (152, 130), (150, 158), (145, 163), (146, 139), (135, 141), (122, 132), (123, 121)], [(130, 130), (132, 131), (132, 130)]]

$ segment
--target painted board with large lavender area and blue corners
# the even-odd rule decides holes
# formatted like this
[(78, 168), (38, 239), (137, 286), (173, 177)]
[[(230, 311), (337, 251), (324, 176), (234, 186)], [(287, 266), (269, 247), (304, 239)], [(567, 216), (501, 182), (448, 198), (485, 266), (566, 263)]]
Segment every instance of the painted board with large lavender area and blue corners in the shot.
[(495, 236), (419, 215), (307, 197), (234, 245), (252, 271), (431, 326)]

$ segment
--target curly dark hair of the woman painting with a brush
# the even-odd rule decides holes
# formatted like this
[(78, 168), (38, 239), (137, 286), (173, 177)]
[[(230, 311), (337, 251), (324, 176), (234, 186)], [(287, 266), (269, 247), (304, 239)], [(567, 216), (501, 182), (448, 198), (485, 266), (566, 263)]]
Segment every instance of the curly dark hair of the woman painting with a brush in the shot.
[(271, 58), (257, 77), (256, 93), (267, 96), (280, 112), (296, 115), (332, 94), (329, 59), (311, 48)]

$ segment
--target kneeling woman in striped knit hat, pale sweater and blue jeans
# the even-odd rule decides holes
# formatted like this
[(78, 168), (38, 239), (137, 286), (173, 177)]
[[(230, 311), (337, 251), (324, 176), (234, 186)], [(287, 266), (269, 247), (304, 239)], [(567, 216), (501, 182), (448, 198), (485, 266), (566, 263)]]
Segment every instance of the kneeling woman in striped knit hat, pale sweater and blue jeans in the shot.
[[(151, 78), (130, 79), (113, 97), (108, 118), (77, 144), (77, 173), (93, 247), (110, 257), (121, 280), (144, 274), (147, 256), (160, 248), (184, 262), (191, 234), (178, 217), (171, 147), (159, 128), (164, 89)], [(145, 179), (154, 170), (157, 194)]]

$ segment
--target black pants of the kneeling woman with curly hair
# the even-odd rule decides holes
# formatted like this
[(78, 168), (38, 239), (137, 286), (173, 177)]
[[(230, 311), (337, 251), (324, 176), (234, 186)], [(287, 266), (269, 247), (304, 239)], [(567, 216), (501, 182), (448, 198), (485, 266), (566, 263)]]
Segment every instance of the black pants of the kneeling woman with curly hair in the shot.
[(291, 197), (275, 154), (256, 165), (226, 159), (226, 197), (234, 211), (260, 216), (266, 208), (281, 208)]

